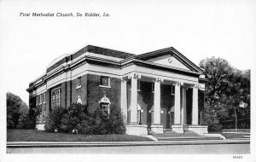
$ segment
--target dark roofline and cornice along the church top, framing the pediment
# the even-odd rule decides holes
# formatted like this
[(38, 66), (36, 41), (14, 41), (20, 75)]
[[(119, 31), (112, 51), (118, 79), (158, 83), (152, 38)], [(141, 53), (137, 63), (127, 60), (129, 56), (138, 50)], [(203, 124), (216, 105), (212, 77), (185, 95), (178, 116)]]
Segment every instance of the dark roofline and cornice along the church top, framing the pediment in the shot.
[[(84, 55), (86, 52), (98, 54), (98, 55), (106, 55), (111, 56), (115, 58), (119, 58), (117, 60), (104, 58), (101, 56), (93, 56), (93, 55)], [(84, 55), (84, 56), (83, 56)], [(173, 66), (166, 66), (161, 65), (159, 63), (155, 63), (152, 61), (148, 61), (152, 58), (159, 57), (161, 55), (172, 55), (175, 57), (178, 61), (183, 63), (185, 67), (188, 67), (189, 69), (182, 69), (179, 67), (173, 67)], [(79, 59), (81, 56), (81, 60)], [(78, 59), (76, 59), (78, 58)], [(76, 60), (75, 60), (76, 59)], [(79, 60), (79, 61), (77, 61)], [(90, 62), (93, 64), (99, 64), (99, 65), (110, 65), (113, 67), (122, 68), (125, 66), (129, 66), (131, 64), (140, 65), (143, 67), (153, 67), (161, 70), (167, 70), (167, 71), (173, 71), (173, 72), (182, 72), (182, 73), (189, 73), (189, 75), (197, 75), (200, 76), (203, 73), (203, 70), (201, 70), (200, 67), (197, 67), (192, 61), (189, 61), (184, 55), (179, 53), (177, 49), (174, 49), (173, 47), (166, 48), (166, 49), (159, 49), (152, 52), (144, 53), (142, 55), (133, 55), (127, 52), (119, 51), (119, 50), (113, 50), (113, 49), (106, 49), (102, 47), (97, 47), (94, 45), (86, 45), (84, 48), (79, 49), (78, 51), (74, 52), (73, 54), (69, 55), (61, 55), (57, 57), (54, 61), (52, 61), (49, 66), (46, 69), (46, 72), (43, 76), (40, 78), (35, 79), (29, 84), (29, 88), (27, 91), (34, 89), (35, 87), (40, 86), (41, 84), (44, 84), (44, 82), (48, 78), (52, 78), (57, 74), (58, 72), (61, 72), (63, 70), (67, 70), (68, 68), (72, 68), (76, 66), (79, 63), (82, 62)], [(61, 66), (62, 65), (62, 66)], [(201, 81), (205, 81), (204, 79), (201, 79)]]

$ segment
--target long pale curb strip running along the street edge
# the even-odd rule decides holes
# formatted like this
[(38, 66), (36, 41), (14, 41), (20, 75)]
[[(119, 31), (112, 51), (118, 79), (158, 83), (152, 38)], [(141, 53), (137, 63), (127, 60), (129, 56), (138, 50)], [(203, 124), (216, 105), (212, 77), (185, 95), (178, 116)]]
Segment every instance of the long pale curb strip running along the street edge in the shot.
[(160, 145), (244, 144), (248, 139), (172, 142), (7, 142), (7, 148), (129, 147)]

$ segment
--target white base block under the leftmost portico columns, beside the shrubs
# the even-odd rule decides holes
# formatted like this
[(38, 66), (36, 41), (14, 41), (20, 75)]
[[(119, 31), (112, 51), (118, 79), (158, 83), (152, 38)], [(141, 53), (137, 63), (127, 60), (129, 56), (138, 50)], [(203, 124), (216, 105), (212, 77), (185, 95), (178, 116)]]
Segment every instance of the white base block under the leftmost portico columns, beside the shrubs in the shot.
[(127, 124), (126, 126), (126, 134), (127, 135), (136, 135), (136, 136), (143, 136), (148, 135), (146, 124)]

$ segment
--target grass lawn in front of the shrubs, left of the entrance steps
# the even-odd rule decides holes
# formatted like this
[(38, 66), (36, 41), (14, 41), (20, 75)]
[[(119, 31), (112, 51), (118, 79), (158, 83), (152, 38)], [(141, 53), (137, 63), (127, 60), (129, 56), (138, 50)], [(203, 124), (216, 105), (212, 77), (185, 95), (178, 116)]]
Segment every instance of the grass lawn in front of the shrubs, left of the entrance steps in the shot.
[(76, 135), (49, 133), (44, 130), (7, 130), (7, 142), (152, 142), (150, 138), (131, 135)]

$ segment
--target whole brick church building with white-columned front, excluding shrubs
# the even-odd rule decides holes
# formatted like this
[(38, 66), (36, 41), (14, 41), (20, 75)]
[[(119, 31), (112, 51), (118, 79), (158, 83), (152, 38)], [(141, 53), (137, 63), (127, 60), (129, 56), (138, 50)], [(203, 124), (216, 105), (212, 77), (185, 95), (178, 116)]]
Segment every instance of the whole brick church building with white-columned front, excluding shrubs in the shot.
[(79, 102), (108, 112), (119, 107), (127, 134), (168, 129), (204, 134), (205, 81), (201, 68), (172, 47), (133, 55), (87, 45), (55, 59), (27, 91), (29, 107), (40, 107), (38, 130), (55, 106)]

